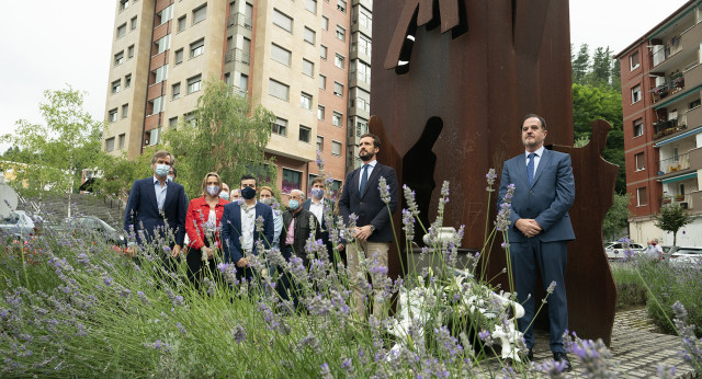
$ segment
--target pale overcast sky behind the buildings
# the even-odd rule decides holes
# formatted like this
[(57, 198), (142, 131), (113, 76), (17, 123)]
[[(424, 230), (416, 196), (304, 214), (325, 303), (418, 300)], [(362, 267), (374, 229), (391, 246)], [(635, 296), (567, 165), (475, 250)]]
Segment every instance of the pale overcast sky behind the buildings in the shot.
[[(382, 1), (382, 0), (376, 0)], [(684, 0), (571, 0), (570, 39), (621, 51)], [(104, 118), (115, 0), (8, 1), (0, 23), (0, 135), (18, 119), (42, 123), (45, 90), (86, 91), (86, 110)], [(621, 16), (626, 19), (620, 20)], [(0, 145), (0, 152), (9, 146)]]

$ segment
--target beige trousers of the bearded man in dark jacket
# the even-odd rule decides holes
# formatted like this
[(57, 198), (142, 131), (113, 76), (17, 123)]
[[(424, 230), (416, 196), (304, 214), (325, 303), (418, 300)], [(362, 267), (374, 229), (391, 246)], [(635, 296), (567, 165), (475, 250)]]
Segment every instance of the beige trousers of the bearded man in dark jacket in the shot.
[[(366, 260), (377, 260), (377, 265), (387, 267), (387, 251), (389, 250), (389, 242), (361, 242), (354, 241), (347, 244), (347, 257), (349, 260), (349, 282), (352, 290), (351, 309), (355, 313), (363, 318), (365, 315), (365, 300), (363, 297), (363, 290), (361, 288), (362, 283), (359, 279), (360, 275), (366, 275), (367, 273), (359, 273), (359, 257), (364, 256)], [(378, 290), (373, 289), (374, 297), (377, 297)], [(387, 317), (386, 303), (374, 303), (373, 314), (377, 318)]]

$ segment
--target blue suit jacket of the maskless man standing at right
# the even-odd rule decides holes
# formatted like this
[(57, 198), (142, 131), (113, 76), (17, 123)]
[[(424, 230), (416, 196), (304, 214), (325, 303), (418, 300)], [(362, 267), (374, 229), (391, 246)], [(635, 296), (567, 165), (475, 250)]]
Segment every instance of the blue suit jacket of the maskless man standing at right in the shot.
[(568, 209), (575, 200), (575, 180), (569, 154), (544, 149), (531, 186), (523, 153), (505, 162), (498, 205), (503, 203), (509, 184), (514, 184), (516, 187), (508, 229), (510, 242), (528, 240), (514, 226), (520, 218), (532, 218), (539, 222), (543, 231), (535, 238), (542, 242), (575, 240), (568, 216)]

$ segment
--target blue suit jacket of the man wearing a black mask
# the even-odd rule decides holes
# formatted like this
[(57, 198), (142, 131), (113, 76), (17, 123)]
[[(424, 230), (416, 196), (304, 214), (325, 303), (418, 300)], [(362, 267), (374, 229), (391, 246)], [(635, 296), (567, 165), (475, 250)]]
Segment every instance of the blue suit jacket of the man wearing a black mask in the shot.
[[(256, 203), (256, 219), (263, 218), (263, 232), (253, 230), (253, 249), (252, 254), (258, 255), (256, 242), (263, 240), (265, 249), (271, 248), (273, 243), (273, 209), (263, 203)], [(222, 215), (222, 250), (226, 262), (237, 263), (244, 257), (241, 249), (241, 206), (239, 202), (231, 202), (224, 206)]]

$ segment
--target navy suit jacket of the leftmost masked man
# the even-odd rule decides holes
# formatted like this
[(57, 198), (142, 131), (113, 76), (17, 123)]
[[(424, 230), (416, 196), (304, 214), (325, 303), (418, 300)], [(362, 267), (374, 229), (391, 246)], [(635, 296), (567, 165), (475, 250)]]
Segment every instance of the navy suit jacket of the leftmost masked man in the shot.
[[(134, 182), (132, 191), (129, 191), (129, 198), (124, 213), (124, 230), (128, 233), (131, 227), (134, 227), (134, 231), (137, 232), (137, 242), (148, 243), (154, 239), (155, 230), (163, 228), (168, 222), (168, 228), (176, 237), (176, 243), (182, 246), (185, 239), (186, 213), (188, 197), (182, 185), (176, 182), (168, 182), (163, 214), (161, 215), (158, 211), (154, 176), (140, 179)], [(140, 240), (139, 230), (144, 230), (147, 241)]]

